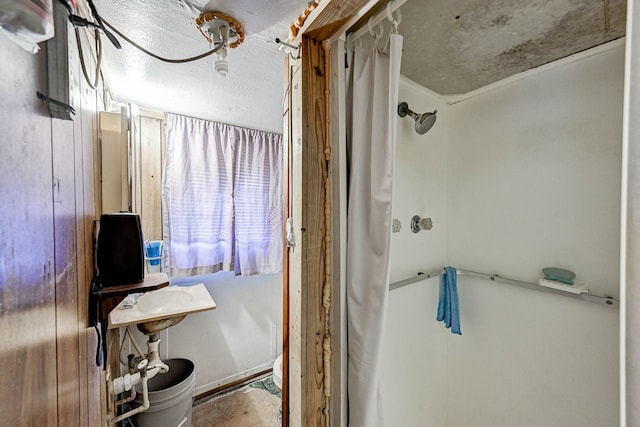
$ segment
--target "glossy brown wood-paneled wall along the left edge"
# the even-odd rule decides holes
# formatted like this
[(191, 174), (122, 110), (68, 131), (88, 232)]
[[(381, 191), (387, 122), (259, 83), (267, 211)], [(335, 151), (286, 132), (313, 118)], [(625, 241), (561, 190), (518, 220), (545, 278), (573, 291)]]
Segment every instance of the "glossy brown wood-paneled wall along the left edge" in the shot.
[(101, 97), (72, 46), (76, 115), (52, 119), (36, 97), (48, 89), (42, 47), (32, 55), (0, 37), (0, 424), (99, 426), (105, 389), (87, 297)]

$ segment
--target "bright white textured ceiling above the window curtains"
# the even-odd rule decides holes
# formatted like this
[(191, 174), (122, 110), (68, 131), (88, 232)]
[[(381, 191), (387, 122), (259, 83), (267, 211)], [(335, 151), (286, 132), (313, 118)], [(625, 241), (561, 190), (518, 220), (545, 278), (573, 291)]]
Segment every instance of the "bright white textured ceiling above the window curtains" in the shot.
[(229, 74), (213, 71), (215, 56), (186, 64), (153, 59), (120, 39), (116, 50), (103, 38), (106, 69), (120, 102), (190, 115), (253, 129), (282, 131), (285, 52), (289, 25), (306, 0), (95, 0), (110, 24), (153, 53), (185, 58), (210, 49), (195, 26), (201, 10), (236, 18), (246, 38), (229, 49)]

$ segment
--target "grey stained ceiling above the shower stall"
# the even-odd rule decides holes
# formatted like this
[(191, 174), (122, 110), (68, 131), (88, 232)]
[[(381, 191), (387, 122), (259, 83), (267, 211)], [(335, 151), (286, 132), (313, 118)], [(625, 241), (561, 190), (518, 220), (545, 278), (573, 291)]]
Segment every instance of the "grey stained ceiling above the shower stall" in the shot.
[(461, 94), (624, 36), (626, 0), (409, 0), (402, 74)]

